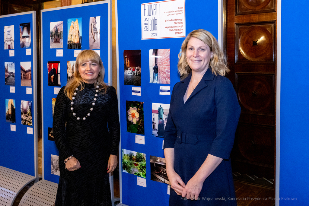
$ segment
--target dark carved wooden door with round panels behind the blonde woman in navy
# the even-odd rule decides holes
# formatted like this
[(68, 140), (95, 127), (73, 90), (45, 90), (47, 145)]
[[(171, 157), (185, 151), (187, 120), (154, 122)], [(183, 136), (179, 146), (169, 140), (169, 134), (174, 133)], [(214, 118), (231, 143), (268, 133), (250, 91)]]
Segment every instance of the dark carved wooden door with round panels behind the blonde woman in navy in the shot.
[(232, 170), (235, 178), (247, 174), (244, 179), (249, 182), (275, 175), (276, 4), (276, 0), (224, 2), (224, 50), (231, 69), (227, 78), (241, 107)]

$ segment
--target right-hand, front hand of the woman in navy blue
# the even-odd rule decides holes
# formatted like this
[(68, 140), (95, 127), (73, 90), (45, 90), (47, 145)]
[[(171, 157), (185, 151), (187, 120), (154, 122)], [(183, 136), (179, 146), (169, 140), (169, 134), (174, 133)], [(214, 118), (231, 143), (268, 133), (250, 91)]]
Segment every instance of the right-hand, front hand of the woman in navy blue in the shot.
[(200, 192), (202, 190), (204, 181), (197, 178), (196, 175), (194, 175), (187, 183), (186, 187), (184, 188), (184, 191), (182, 191), (182, 197), (186, 197), (187, 199), (191, 200), (198, 200), (198, 195), (200, 195)]

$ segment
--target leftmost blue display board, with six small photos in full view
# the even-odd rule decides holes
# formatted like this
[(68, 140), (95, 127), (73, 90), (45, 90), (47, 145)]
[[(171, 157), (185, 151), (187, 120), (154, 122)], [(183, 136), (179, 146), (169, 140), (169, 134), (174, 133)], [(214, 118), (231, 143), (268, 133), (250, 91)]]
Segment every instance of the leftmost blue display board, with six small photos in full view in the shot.
[(36, 12), (0, 16), (0, 29), (0, 165), (38, 177)]

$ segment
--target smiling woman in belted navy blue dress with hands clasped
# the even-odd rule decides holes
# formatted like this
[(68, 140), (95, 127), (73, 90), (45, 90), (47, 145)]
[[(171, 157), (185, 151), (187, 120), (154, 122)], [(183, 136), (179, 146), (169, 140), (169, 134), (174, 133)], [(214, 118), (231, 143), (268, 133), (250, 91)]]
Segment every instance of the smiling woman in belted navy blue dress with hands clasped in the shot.
[(173, 88), (164, 131), (169, 205), (236, 206), (230, 153), (240, 106), (226, 58), (203, 29), (188, 34), (181, 50), (178, 71), (188, 77)]

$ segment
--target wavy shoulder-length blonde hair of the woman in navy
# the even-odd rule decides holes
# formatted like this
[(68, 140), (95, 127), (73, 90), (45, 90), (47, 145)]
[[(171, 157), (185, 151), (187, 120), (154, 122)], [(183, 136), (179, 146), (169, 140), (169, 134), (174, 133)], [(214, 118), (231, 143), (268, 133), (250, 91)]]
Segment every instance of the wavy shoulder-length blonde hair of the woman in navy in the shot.
[(178, 54), (178, 72), (180, 75), (190, 74), (192, 71), (187, 62), (187, 45), (189, 40), (195, 37), (210, 47), (210, 51), (213, 53), (213, 57), (210, 58), (210, 69), (217, 76), (225, 76), (230, 69), (227, 67), (227, 60), (224, 56), (216, 38), (208, 31), (204, 29), (193, 30), (188, 34), (186, 39), (181, 45), (181, 52)]

